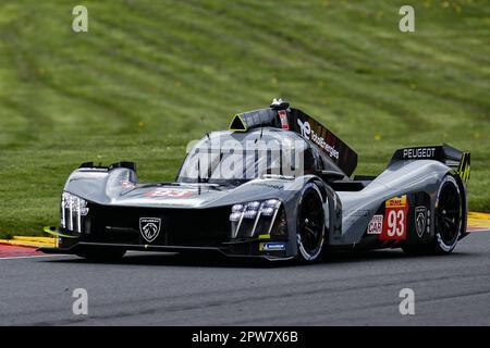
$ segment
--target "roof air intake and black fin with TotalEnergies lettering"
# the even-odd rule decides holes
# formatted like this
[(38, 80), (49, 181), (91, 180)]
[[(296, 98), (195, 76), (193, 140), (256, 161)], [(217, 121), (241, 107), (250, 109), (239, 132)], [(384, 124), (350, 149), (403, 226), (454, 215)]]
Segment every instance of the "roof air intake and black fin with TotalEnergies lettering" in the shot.
[(236, 114), (230, 124), (230, 130), (247, 132), (266, 126), (292, 130), (310, 140), (346, 176), (351, 176), (357, 166), (357, 153), (353, 149), (321, 123), (298, 109), (290, 108), (282, 100), (274, 100), (267, 109)]

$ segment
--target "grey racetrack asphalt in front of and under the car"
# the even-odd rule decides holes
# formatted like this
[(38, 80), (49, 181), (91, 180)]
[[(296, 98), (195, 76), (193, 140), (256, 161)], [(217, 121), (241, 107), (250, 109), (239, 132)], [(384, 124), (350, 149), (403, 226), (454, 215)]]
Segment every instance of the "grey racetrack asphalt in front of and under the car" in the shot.
[[(75, 288), (88, 315), (75, 315)], [(415, 314), (401, 315), (402, 288)], [(490, 232), (451, 256), (335, 253), (314, 265), (128, 253), (0, 259), (0, 325), (490, 325)]]

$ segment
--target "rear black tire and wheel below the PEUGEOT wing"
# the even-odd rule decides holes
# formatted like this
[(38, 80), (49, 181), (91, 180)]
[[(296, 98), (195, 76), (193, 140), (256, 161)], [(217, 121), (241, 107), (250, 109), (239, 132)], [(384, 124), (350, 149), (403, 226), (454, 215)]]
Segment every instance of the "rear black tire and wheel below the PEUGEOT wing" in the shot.
[(463, 197), (456, 179), (446, 175), (438, 190), (434, 209), (434, 237), (426, 245), (407, 246), (411, 254), (449, 254), (456, 247), (462, 231)]

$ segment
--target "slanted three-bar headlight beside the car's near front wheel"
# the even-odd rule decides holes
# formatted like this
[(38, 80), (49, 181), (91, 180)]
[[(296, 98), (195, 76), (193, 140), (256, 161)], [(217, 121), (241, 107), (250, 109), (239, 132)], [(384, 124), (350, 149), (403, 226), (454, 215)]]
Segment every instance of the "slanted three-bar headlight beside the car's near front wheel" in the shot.
[(280, 207), (279, 199), (234, 204), (230, 213), (232, 238), (269, 235)]

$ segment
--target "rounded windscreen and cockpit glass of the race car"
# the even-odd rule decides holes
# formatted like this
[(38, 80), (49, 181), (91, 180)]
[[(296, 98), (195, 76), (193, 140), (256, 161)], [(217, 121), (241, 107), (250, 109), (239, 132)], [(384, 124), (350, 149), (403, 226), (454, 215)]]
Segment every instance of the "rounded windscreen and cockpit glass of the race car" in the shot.
[(240, 184), (264, 174), (296, 177), (314, 167), (310, 146), (294, 133), (219, 132), (207, 135), (192, 148), (177, 181)]

